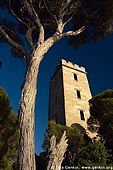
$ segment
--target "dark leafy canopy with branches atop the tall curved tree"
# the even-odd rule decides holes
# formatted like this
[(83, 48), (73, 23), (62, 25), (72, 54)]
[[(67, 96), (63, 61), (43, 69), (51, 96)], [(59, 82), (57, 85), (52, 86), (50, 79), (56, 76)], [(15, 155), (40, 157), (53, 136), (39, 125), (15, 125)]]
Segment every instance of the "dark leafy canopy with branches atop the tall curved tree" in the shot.
[(11, 44), (13, 55), (26, 58), (28, 63), (29, 52), (37, 45), (41, 25), (44, 39), (56, 32), (61, 21), (64, 32), (85, 28), (79, 36), (71, 37), (70, 43), (74, 47), (91, 39), (97, 41), (113, 31), (112, 0), (1, 0), (0, 8), (7, 9), (15, 18), (11, 15), (0, 17), (0, 40)]

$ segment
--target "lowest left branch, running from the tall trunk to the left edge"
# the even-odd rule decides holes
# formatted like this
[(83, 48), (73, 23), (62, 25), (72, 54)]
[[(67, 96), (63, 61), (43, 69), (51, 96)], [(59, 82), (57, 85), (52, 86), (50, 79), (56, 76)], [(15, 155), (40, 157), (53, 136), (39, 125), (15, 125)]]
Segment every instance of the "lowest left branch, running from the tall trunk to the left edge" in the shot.
[(14, 40), (12, 40), (9, 37), (9, 35), (3, 30), (3, 28), (1, 26), (0, 26), (0, 32), (10, 45), (12, 45), (13, 47), (20, 50), (23, 53), (23, 58), (26, 59), (26, 63), (28, 66), (29, 62), (30, 62), (30, 57), (29, 57), (27, 51), (23, 48), (23, 46), (21, 46), (20, 44), (16, 43)]

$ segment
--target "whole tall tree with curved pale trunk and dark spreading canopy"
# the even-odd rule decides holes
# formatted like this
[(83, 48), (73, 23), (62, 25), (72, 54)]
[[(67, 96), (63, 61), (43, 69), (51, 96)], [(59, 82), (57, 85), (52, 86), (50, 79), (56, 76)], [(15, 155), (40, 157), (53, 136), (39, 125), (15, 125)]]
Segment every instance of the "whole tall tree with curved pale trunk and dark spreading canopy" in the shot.
[(112, 0), (1, 0), (0, 7), (9, 15), (0, 18), (0, 39), (11, 45), (13, 55), (26, 61), (19, 112), (19, 169), (35, 170), (34, 108), (40, 62), (63, 37), (72, 36), (71, 44), (79, 46), (111, 33), (113, 4)]

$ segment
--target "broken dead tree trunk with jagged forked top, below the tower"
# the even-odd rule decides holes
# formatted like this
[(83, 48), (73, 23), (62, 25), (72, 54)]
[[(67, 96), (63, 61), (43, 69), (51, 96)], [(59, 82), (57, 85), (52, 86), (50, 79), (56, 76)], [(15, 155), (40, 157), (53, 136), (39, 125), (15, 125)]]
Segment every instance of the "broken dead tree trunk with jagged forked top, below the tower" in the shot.
[(56, 137), (50, 140), (50, 155), (47, 170), (61, 170), (61, 164), (67, 148), (66, 132), (62, 135), (60, 142), (56, 145)]

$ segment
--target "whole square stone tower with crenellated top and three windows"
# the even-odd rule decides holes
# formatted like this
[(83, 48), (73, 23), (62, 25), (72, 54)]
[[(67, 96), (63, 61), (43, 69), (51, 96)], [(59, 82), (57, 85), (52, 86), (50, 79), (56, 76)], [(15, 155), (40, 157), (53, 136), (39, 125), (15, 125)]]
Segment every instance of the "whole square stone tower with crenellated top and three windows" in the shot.
[(85, 68), (61, 60), (50, 82), (49, 120), (87, 131), (91, 97)]

